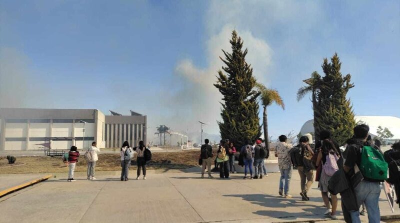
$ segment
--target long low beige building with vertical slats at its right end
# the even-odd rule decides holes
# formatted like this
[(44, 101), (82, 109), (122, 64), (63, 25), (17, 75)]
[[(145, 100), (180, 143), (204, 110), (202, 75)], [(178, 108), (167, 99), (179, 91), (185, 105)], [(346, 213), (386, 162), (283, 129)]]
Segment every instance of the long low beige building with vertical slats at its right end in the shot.
[[(87, 148), (118, 148), (123, 141), (146, 143), (147, 117), (130, 111), (121, 115), (97, 109), (0, 108), (0, 151)], [(84, 127), (84, 131), (83, 131)]]

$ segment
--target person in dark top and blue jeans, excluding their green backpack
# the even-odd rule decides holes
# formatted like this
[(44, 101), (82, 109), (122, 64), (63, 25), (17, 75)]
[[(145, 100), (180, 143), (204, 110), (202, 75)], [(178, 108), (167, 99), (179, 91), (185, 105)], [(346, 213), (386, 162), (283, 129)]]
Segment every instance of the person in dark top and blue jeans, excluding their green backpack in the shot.
[[(364, 145), (372, 146), (380, 153), (380, 149), (375, 145), (371, 145), (367, 142), (369, 127), (365, 124), (357, 125), (353, 129), (354, 138), (357, 143), (347, 146), (346, 148), (346, 161), (344, 162), (343, 170), (349, 177), (354, 174), (354, 166), (360, 166), (361, 162), (361, 148)], [(359, 206), (362, 203), (365, 204), (366, 211), (368, 214), (369, 223), (380, 222), (380, 211), (379, 211), (379, 195), (380, 195), (380, 182), (382, 180), (370, 179), (364, 176), (364, 179), (358, 184), (357, 187), (353, 188), (355, 196), (357, 198), (358, 208), (356, 210), (349, 210), (351, 216), (351, 222), (360, 223), (360, 212)]]

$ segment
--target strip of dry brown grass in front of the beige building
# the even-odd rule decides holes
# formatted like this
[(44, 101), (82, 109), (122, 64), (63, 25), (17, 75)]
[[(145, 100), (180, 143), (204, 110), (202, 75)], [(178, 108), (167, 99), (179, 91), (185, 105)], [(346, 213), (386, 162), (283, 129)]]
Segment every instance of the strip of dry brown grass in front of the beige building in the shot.
[[(86, 160), (83, 154), (78, 159), (75, 171), (86, 171)], [(149, 169), (184, 169), (197, 166), (199, 151), (182, 152), (159, 152), (152, 154), (152, 160), (147, 162)], [(66, 172), (67, 167), (62, 162), (61, 157), (48, 156), (23, 156), (16, 157), (15, 164), (24, 163), (24, 165), (10, 166), (7, 160), (1, 160), (0, 174), (13, 173), (56, 173)], [(136, 160), (132, 159), (132, 169), (135, 167)], [(119, 154), (99, 154), (96, 163), (96, 171), (120, 170)]]

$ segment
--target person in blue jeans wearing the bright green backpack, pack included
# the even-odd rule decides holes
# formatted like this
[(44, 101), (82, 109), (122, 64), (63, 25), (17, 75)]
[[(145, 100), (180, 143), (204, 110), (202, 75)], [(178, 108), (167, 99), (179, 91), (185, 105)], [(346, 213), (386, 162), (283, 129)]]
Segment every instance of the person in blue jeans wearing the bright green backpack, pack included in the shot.
[[(365, 124), (357, 125), (353, 129), (355, 143), (350, 144), (346, 148), (346, 160), (344, 162), (343, 170), (347, 173), (348, 177), (356, 175), (355, 168), (359, 167), (359, 172), (363, 176), (363, 180), (357, 183), (355, 188), (352, 188), (357, 198), (358, 208), (356, 210), (349, 210), (351, 221), (354, 223), (361, 222), (359, 215), (359, 207), (362, 203), (365, 204), (365, 208), (368, 214), (368, 222), (376, 223), (380, 222), (380, 211), (379, 211), (379, 195), (380, 195), (380, 182), (383, 182), (385, 173), (387, 173), (387, 165), (383, 159), (382, 152), (375, 145), (371, 145), (367, 142), (369, 126)], [(374, 163), (368, 159), (361, 158), (361, 153), (368, 153), (368, 156), (374, 156)], [(363, 157), (368, 157), (363, 156)], [(365, 171), (363, 166), (369, 166), (370, 171)], [(376, 168), (378, 167), (378, 168)], [(358, 172), (358, 173), (359, 173)], [(382, 174), (379, 174), (382, 173)]]

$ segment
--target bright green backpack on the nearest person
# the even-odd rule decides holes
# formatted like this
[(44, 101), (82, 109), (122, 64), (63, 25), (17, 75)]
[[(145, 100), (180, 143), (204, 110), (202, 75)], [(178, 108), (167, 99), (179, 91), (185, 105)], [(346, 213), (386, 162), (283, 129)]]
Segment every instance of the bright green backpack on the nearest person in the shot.
[(359, 169), (364, 177), (385, 180), (387, 179), (387, 163), (383, 155), (371, 146), (363, 146)]

